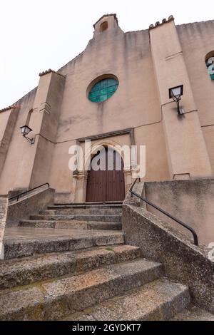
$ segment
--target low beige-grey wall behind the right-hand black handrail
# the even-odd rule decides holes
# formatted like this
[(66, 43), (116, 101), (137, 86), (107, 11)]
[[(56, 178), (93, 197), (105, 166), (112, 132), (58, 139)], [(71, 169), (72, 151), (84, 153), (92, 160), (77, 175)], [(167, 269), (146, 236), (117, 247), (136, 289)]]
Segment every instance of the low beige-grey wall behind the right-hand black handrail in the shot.
[[(145, 182), (148, 200), (180, 218), (198, 234), (200, 244), (214, 242), (214, 179), (202, 180), (168, 180), (162, 182)], [(190, 232), (176, 222), (148, 206), (148, 211), (168, 222), (176, 230), (188, 237)]]

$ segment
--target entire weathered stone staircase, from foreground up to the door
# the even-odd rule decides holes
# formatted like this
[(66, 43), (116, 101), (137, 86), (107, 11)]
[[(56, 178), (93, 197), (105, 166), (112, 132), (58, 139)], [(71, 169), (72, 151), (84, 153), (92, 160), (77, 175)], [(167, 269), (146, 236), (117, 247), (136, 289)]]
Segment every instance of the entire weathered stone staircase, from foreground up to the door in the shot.
[(6, 230), (0, 319), (212, 319), (162, 264), (124, 244), (118, 224), (121, 204), (54, 205)]

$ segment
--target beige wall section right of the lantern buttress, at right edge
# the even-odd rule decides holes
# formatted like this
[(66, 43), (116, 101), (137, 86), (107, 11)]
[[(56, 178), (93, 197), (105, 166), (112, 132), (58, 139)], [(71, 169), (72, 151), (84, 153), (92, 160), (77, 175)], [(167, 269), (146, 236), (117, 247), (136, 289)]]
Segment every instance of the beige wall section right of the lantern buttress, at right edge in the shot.
[(214, 170), (214, 81), (210, 80), (205, 56), (214, 50), (214, 21), (196, 22), (177, 26), (183, 57), (190, 78), (200, 125), (203, 129), (210, 162)]

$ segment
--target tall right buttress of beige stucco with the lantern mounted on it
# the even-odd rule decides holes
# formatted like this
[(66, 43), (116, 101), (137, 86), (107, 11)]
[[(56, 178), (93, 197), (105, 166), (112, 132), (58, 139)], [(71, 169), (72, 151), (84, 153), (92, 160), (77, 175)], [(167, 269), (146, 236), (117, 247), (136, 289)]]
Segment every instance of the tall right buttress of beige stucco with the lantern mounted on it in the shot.
[[(212, 169), (208, 151), (173, 17), (161, 25), (152, 26), (149, 33), (170, 177), (210, 177)], [(181, 84), (184, 88), (181, 100), (181, 107), (185, 110), (183, 116), (178, 115), (175, 103), (168, 97), (168, 89)]]

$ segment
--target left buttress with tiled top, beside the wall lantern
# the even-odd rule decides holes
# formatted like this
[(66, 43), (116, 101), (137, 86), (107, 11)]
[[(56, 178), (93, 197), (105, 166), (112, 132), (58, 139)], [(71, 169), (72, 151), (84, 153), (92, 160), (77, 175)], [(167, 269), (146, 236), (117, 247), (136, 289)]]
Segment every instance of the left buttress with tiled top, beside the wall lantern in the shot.
[[(65, 77), (54, 71), (40, 73), (29, 127), (34, 145), (24, 144), (22, 163), (14, 188), (31, 188), (49, 182)], [(42, 173), (41, 173), (42, 171)]]

